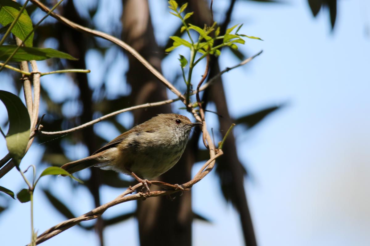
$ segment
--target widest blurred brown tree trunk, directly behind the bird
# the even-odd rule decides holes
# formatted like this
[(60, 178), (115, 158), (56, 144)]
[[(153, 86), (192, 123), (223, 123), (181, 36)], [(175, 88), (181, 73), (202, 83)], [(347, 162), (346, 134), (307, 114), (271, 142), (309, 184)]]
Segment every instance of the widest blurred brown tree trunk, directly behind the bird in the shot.
[[(137, 50), (157, 70), (161, 71), (163, 51), (159, 50), (147, 0), (123, 0), (123, 40)], [(131, 101), (135, 105), (167, 99), (166, 87), (137, 59), (128, 54), (128, 83), (132, 87)], [(135, 124), (156, 114), (171, 112), (170, 105), (134, 111)], [(191, 179), (194, 156), (185, 150), (181, 160), (159, 180), (168, 183), (185, 183)], [(157, 187), (152, 186), (151, 190)], [(171, 201), (166, 197), (153, 197), (138, 201), (137, 219), (141, 245), (191, 245), (191, 193)], [(169, 233), (171, 232), (171, 233)]]

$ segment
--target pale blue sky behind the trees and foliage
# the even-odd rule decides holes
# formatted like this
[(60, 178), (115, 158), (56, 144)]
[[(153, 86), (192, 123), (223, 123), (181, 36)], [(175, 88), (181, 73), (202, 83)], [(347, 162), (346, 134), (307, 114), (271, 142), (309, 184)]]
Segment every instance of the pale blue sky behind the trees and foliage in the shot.
[[(214, 2), (215, 18), (221, 18), (219, 13), (228, 1)], [(163, 43), (172, 30), (168, 23), (176, 20), (168, 14), (165, 3), (157, 3), (150, 1), (152, 10), (160, 17), (168, 15), (166, 20), (153, 18), (156, 38)], [(112, 16), (119, 14), (112, 12)], [(238, 126), (234, 131), (240, 159), (251, 176), (245, 184), (259, 245), (369, 245), (370, 37), (366, 29), (370, 23), (370, 3), (339, 1), (333, 32), (327, 11), (321, 10), (313, 18), (305, 0), (270, 5), (239, 0), (231, 25), (238, 23), (245, 23), (241, 32), (265, 41), (247, 40), (240, 49), (250, 55), (263, 49), (262, 55), (223, 76), (231, 115), (238, 117), (266, 106), (286, 104), (251, 131), (245, 132)], [(102, 23), (101, 30), (107, 26)], [(94, 52), (89, 56), (98, 59)], [(166, 77), (174, 76), (166, 64), (176, 56), (174, 53), (162, 63)], [(126, 59), (122, 56), (118, 60)], [(237, 64), (238, 60), (224, 52), (220, 63), (223, 68)], [(44, 63), (39, 64), (40, 70), (47, 70)], [(127, 66), (122, 67), (124, 72)], [(88, 64), (88, 69), (92, 70), (91, 77), (104, 72), (94, 62)], [(129, 88), (120, 86), (121, 75), (108, 73), (110, 88), (127, 93)], [(3, 74), (0, 77), (7, 79)], [(91, 83), (94, 86), (98, 80)], [(73, 89), (71, 82), (54, 77), (53, 86), (58, 84), (65, 93)], [(2, 83), (1, 89), (13, 90), (6, 83)], [(78, 111), (78, 105), (71, 104), (65, 111), (68, 110)], [(6, 117), (2, 105), (0, 113)], [(209, 115), (209, 127), (217, 129), (214, 119)], [(131, 116), (124, 114), (121, 120), (129, 125)], [(94, 128), (98, 133), (104, 123), (99, 124)], [(108, 132), (107, 139), (117, 134)], [(24, 162), (37, 163), (41, 148), (42, 145), (34, 145)], [(3, 139), (0, 154), (6, 154)], [(86, 154), (80, 147), (73, 150), (71, 157)], [(199, 166), (195, 165), (194, 173)], [(71, 184), (63, 178), (54, 181), (48, 177), (40, 184), (44, 187), (53, 184), (58, 197), (68, 202), (77, 214), (93, 207), (84, 188), (70, 194)], [(0, 185), (15, 191), (24, 187), (16, 170), (2, 178)], [(101, 191), (102, 202), (122, 192), (108, 187), (102, 187)], [(192, 192), (195, 212), (212, 221), (211, 224), (194, 222), (194, 245), (229, 242), (243, 245), (238, 215), (223, 201), (214, 173), (194, 186)], [(135, 203), (127, 202), (108, 209), (104, 216), (109, 218), (134, 209)], [(13, 201), (11, 208), (0, 216), (4, 245), (26, 244), (29, 204)], [(39, 232), (64, 220), (37, 190), (35, 217)], [(127, 245), (137, 245), (136, 228), (135, 219), (109, 227), (105, 231), (107, 245), (122, 243), (122, 233)], [(43, 245), (97, 245), (95, 239), (94, 233), (75, 227)]]

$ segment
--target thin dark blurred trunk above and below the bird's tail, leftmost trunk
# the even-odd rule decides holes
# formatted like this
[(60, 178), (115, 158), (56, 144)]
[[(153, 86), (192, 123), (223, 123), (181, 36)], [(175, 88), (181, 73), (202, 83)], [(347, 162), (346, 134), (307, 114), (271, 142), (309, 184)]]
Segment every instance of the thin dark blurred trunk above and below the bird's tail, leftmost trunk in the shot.
[[(72, 0), (68, 0), (67, 3), (62, 4), (62, 6), (63, 9), (61, 9), (61, 11), (63, 11), (62, 15), (64, 15), (64, 17), (68, 18), (73, 22), (76, 22), (77, 24), (84, 26), (87, 25), (77, 13)], [(60, 30), (60, 32), (58, 32), (59, 33), (58, 41), (61, 50), (66, 51), (67, 53), (73, 55), (74, 57), (79, 58), (76, 61), (67, 60), (68, 65), (75, 69), (86, 69), (85, 55), (88, 47), (85, 35), (63, 24), (60, 24), (59, 22), (57, 23), (57, 25), (58, 30)], [(94, 105), (94, 102), (92, 101), (92, 90), (89, 87), (86, 73), (75, 73), (73, 79), (75, 83), (78, 85), (78, 88), (80, 90), (80, 100), (83, 105), (83, 111), (80, 116), (80, 124), (82, 124), (84, 122), (92, 120), (92, 114), (94, 112), (92, 109), (92, 106)], [(94, 129), (92, 127), (87, 127), (81, 130), (81, 132), (82, 132), (81, 141), (85, 143), (90, 154), (92, 154), (97, 149)], [(99, 173), (101, 172), (101, 170), (97, 168), (91, 168), (90, 170), (91, 176), (89, 181), (87, 182), (88, 189), (90, 190), (90, 193), (94, 198), (95, 207), (99, 207), (100, 206), (99, 187), (101, 184)], [(104, 245), (103, 229), (104, 225), (102, 217), (98, 217), (97, 222), (95, 224), (95, 231), (99, 237), (101, 246)]]

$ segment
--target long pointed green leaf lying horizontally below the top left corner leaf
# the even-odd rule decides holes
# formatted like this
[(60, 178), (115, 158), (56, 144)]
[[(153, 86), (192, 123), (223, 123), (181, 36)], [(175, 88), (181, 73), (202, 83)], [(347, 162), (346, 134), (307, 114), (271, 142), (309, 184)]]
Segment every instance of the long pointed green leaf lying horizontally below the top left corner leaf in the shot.
[[(0, 46), (0, 60), (6, 60), (16, 49), (16, 45), (2, 45)], [(77, 60), (73, 56), (57, 51), (51, 48), (30, 48), (21, 47), (17, 53), (10, 59), (12, 62), (21, 62), (23, 60), (46, 60), (49, 58), (63, 58), (68, 60)]]

